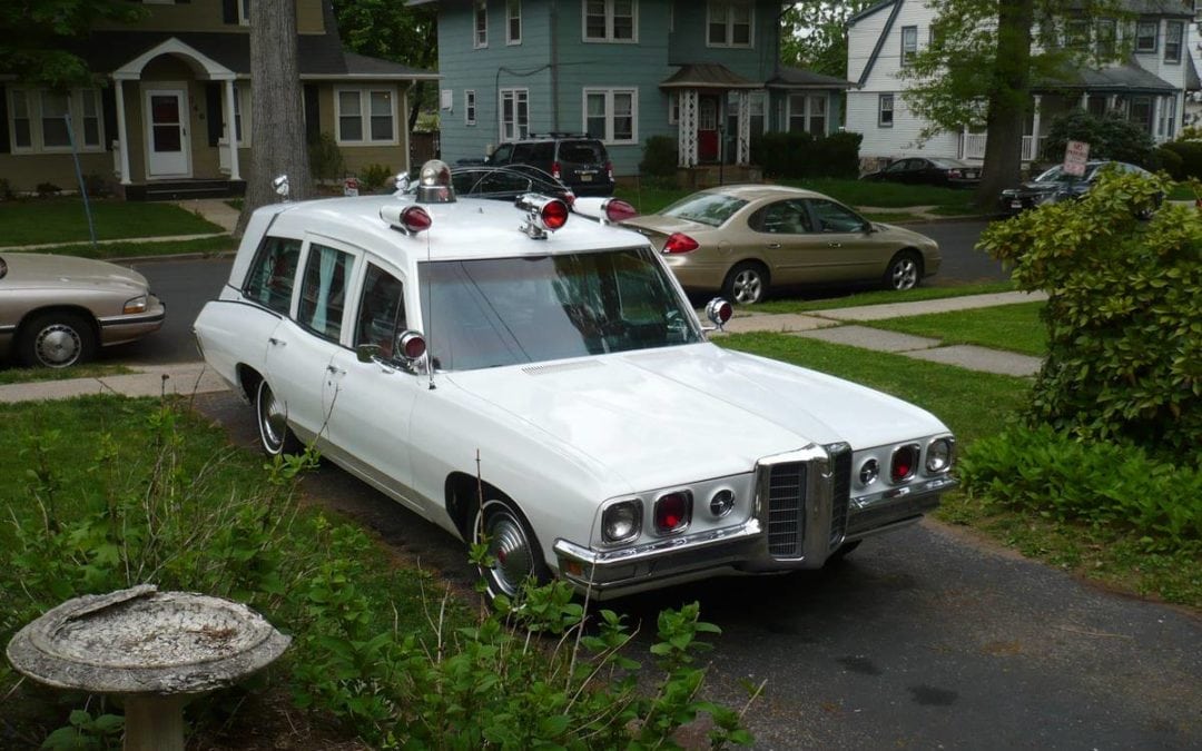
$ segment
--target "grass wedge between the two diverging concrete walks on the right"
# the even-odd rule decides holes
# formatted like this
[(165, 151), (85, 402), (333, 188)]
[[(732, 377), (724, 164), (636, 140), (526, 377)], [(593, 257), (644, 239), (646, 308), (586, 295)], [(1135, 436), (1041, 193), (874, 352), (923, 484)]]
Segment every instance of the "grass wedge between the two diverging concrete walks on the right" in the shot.
[(864, 321), (863, 326), (915, 336), (939, 339), (945, 345), (971, 344), (1043, 357), (1047, 354), (1047, 327), (1040, 318), (1043, 303), (1019, 303), (976, 310), (905, 316), (886, 321)]

